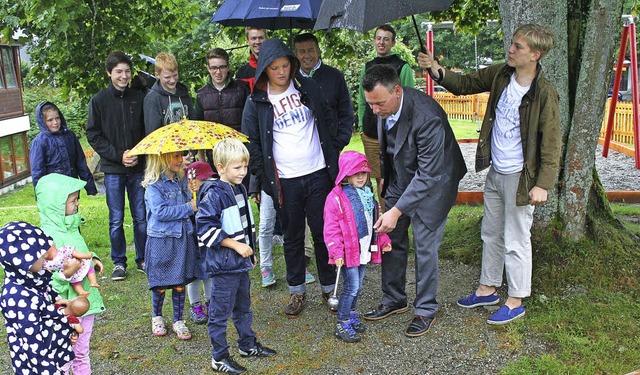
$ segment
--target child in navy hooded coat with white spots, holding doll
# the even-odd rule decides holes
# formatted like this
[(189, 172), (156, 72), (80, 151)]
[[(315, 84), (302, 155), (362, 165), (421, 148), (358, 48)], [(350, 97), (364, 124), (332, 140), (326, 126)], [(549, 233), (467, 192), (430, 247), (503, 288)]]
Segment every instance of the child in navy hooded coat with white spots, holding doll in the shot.
[[(4, 286), (0, 310), (4, 316), (9, 356), (16, 374), (61, 374), (74, 358), (77, 335), (67, 318), (54, 306), (58, 294), (51, 288), (51, 273), (43, 268), (47, 251), (55, 248), (51, 237), (25, 222), (0, 229), (0, 265)], [(80, 262), (68, 263), (72, 275)]]

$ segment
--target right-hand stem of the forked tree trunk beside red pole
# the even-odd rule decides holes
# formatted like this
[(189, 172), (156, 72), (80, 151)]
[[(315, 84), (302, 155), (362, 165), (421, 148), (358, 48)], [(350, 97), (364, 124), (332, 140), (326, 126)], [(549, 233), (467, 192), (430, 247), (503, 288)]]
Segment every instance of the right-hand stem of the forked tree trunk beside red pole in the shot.
[[(587, 233), (589, 192), (593, 183), (595, 150), (598, 145), (604, 105), (610, 84), (610, 73), (619, 40), (622, 1), (593, 1), (582, 13), (580, 26), (584, 33), (577, 54), (575, 87), (570, 87), (575, 105), (566, 134), (563, 171), (559, 183), (560, 218), (570, 239), (578, 240)], [(597, 182), (599, 183), (599, 181)]]

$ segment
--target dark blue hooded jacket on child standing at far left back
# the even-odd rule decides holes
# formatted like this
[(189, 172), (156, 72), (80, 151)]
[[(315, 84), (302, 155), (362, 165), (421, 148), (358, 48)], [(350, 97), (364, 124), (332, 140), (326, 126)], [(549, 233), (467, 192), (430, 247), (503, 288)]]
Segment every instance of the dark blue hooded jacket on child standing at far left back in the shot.
[(42, 107), (46, 104), (53, 103), (42, 102), (36, 107), (36, 120), (40, 127), (40, 134), (33, 139), (29, 150), (34, 189), (42, 176), (60, 173), (73, 178), (80, 177), (87, 182), (85, 186), (87, 194), (98, 194), (93, 174), (89, 171), (78, 137), (67, 128), (67, 121), (59, 109), (60, 130), (55, 133), (49, 130), (42, 114)]

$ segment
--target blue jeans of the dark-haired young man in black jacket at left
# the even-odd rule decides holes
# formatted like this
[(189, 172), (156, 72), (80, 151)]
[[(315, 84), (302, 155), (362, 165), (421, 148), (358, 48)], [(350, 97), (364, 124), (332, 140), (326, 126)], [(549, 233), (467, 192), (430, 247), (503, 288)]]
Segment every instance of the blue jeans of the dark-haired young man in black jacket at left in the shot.
[(124, 237), (124, 193), (129, 197), (129, 210), (133, 218), (133, 241), (136, 248), (136, 264), (144, 262), (147, 243), (147, 219), (144, 205), (144, 173), (105, 173), (104, 186), (109, 207), (109, 239), (111, 260), (114, 265), (127, 268), (127, 242)]

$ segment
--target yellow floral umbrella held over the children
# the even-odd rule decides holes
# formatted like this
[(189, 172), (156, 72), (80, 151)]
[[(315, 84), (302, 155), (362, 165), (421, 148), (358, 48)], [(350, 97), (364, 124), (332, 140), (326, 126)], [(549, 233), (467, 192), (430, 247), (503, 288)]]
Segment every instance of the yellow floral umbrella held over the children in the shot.
[(249, 141), (246, 135), (226, 125), (184, 119), (154, 130), (132, 148), (128, 155), (210, 150), (218, 141), (226, 138)]

